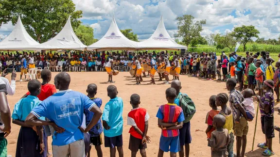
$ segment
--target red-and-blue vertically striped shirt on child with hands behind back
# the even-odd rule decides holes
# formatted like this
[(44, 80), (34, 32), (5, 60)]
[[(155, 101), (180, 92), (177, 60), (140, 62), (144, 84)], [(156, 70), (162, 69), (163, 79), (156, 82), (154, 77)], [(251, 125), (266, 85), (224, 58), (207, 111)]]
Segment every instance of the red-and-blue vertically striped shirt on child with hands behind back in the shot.
[[(157, 111), (157, 118), (161, 119), (163, 123), (183, 122), (185, 120), (182, 108), (176, 104), (161, 105)], [(176, 137), (179, 135), (179, 129), (162, 130), (164, 137)]]

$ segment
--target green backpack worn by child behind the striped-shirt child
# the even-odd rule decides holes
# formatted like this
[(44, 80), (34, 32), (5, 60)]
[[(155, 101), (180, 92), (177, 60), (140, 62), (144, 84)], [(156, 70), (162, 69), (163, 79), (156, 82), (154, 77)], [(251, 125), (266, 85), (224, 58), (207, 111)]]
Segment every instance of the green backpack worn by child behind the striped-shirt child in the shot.
[(194, 113), (195, 113), (195, 105), (192, 99), (186, 94), (179, 95), (179, 105), (184, 112), (185, 120), (183, 123), (190, 122)]

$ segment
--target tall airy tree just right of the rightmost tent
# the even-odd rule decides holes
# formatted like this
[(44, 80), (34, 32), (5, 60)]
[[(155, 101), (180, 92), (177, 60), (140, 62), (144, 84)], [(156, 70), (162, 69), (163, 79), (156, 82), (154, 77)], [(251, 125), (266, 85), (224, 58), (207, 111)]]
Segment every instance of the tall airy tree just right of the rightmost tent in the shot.
[(203, 31), (202, 25), (206, 24), (206, 20), (195, 21), (192, 15), (183, 15), (176, 18), (178, 20), (178, 35), (183, 37), (186, 46), (191, 44), (192, 39), (200, 36)]

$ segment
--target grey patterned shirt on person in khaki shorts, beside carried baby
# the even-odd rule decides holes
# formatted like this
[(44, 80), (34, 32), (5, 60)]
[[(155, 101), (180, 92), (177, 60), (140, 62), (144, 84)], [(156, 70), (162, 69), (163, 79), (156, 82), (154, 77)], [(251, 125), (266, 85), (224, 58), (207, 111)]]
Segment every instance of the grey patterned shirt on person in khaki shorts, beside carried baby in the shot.
[[(236, 117), (237, 115), (237, 111), (238, 109), (238, 104), (242, 104), (244, 100), (243, 95), (241, 94), (241, 92), (237, 91), (237, 90), (232, 90), (229, 93), (229, 106), (232, 110), (232, 113), (234, 115), (234, 117)], [(240, 117), (243, 117), (243, 114), (240, 113)]]

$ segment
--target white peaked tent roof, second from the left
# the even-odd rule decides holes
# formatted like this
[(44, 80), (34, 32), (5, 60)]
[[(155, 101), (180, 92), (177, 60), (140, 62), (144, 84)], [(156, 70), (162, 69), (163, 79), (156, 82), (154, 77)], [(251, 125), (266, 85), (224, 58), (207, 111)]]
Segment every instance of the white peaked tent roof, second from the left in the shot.
[(43, 50), (57, 50), (57, 49), (75, 49), (75, 50), (84, 50), (87, 46), (84, 45), (80, 39), (74, 33), (70, 17), (68, 18), (63, 29), (51, 40), (42, 43), (40, 45), (36, 45), (35, 49), (43, 49)]

